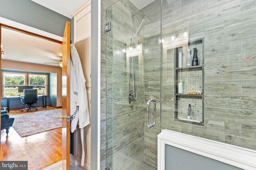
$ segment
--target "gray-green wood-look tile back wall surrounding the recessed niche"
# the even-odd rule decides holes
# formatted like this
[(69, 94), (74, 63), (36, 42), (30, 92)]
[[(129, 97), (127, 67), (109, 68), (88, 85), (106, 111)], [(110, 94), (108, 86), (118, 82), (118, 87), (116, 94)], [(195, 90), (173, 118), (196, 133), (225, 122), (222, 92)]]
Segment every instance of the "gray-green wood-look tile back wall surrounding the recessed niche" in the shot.
[[(204, 127), (174, 121), (174, 63), (173, 57), (168, 56), (168, 45), (164, 43), (162, 129), (256, 150), (256, 1), (175, 0), (168, 4), (163, 0), (163, 6), (162, 33), (165, 39), (172, 34), (179, 39), (185, 30), (190, 40), (205, 39), (206, 107)], [(154, 9), (151, 6), (150, 11), (157, 13)], [(160, 97), (160, 72), (157, 69), (160, 69), (158, 63), (161, 61), (160, 48), (156, 44), (160, 37), (159, 24), (160, 18), (145, 27), (145, 42), (152, 42), (151, 46), (145, 45), (146, 98)], [(160, 110), (160, 106), (157, 107)], [(158, 114), (160, 119), (160, 112)], [(158, 127), (154, 131), (145, 128), (144, 132), (145, 160), (154, 166), (157, 165), (157, 141), (154, 139), (158, 133)]]

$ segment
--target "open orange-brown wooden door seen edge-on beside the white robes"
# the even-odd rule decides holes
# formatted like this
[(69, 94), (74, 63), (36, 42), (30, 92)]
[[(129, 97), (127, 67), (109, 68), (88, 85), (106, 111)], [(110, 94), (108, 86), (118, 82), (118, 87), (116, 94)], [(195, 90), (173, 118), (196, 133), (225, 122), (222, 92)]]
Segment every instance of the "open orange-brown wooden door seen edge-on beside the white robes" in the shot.
[(62, 169), (70, 166), (70, 22), (66, 22), (62, 40)]

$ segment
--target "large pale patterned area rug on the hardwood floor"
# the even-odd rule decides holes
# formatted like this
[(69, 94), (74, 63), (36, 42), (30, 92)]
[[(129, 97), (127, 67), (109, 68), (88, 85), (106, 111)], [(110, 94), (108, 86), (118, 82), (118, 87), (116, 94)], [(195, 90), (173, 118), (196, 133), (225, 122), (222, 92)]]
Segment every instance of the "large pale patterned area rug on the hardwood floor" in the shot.
[(60, 119), (61, 112), (62, 109), (53, 109), (32, 113), (22, 113), (19, 115), (12, 115), (10, 117), (15, 118), (12, 127), (20, 137), (27, 137), (62, 127), (62, 121)]

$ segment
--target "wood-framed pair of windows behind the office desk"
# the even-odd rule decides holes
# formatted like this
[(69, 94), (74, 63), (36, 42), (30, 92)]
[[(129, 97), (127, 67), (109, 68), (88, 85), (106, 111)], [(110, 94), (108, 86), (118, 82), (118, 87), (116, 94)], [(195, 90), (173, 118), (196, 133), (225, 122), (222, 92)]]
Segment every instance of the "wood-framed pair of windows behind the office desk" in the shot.
[[(3, 97), (24, 95), (18, 92), (18, 86), (33, 86), (38, 95), (47, 95), (47, 74), (30, 74), (23, 72), (3, 72)], [(39, 89), (40, 88), (40, 89)]]

